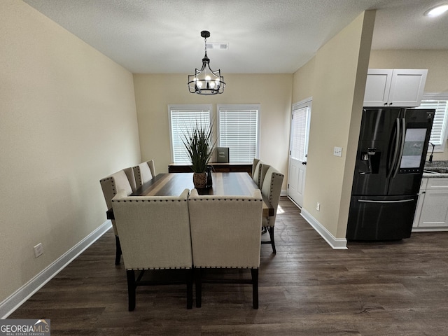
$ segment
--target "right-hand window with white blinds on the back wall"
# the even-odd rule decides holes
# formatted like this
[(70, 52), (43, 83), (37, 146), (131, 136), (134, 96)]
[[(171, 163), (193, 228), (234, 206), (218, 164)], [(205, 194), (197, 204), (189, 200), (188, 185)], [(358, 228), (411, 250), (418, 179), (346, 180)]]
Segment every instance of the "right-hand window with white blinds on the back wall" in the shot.
[(218, 146), (229, 147), (230, 162), (258, 157), (260, 105), (218, 105)]

